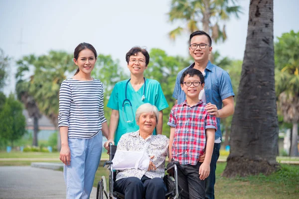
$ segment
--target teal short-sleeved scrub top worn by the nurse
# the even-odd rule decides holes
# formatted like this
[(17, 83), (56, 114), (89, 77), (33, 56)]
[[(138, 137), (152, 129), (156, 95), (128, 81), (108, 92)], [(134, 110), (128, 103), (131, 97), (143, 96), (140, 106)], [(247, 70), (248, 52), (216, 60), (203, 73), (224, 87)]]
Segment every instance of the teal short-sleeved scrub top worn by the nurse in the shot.
[[(139, 126), (136, 123), (135, 114), (137, 108), (141, 104), (150, 103), (152, 105), (155, 105), (159, 111), (168, 107), (168, 103), (164, 97), (164, 94), (158, 81), (146, 79), (145, 100), (141, 100), (145, 85), (143, 85), (138, 91), (135, 91), (131, 85), (131, 82), (129, 82), (127, 87), (127, 99), (130, 100), (132, 103), (133, 114), (130, 104), (126, 103), (124, 106), (123, 117), (123, 101), (125, 100), (127, 82), (128, 80), (121, 81), (114, 86), (107, 104), (107, 107), (118, 110), (120, 114), (118, 127), (114, 136), (114, 142), (116, 145), (123, 134), (139, 130)], [(126, 121), (133, 121), (128, 123), (125, 122), (124, 118)], [(153, 131), (153, 134), (156, 134), (155, 129)]]

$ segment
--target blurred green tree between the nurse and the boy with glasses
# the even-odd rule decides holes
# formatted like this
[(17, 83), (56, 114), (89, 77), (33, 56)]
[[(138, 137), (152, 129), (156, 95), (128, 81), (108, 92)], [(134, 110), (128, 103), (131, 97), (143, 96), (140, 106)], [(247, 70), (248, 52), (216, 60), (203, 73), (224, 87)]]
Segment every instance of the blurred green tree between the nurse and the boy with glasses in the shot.
[(165, 51), (153, 48), (149, 52), (150, 62), (145, 77), (157, 80), (162, 88), (163, 94), (168, 102), (169, 107), (163, 110), (163, 134), (169, 136), (170, 128), (167, 125), (170, 109), (174, 105), (172, 93), (175, 85), (175, 79), (180, 70), (190, 65), (182, 57), (168, 56)]

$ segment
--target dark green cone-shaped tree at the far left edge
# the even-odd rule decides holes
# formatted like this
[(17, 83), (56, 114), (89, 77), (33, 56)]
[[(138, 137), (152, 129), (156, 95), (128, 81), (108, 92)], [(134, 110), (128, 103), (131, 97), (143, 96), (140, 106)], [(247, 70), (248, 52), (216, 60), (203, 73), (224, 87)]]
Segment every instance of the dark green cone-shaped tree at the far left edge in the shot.
[(13, 141), (21, 138), (26, 132), (26, 120), (22, 110), (22, 103), (10, 94), (0, 112), (0, 138), (5, 142), (10, 142), (11, 146), (13, 146)]

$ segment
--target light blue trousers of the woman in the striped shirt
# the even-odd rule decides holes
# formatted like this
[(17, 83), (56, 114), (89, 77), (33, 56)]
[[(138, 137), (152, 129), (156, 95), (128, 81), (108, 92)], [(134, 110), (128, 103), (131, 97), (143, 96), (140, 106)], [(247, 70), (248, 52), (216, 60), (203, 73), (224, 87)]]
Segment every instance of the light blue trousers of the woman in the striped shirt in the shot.
[(68, 139), (71, 162), (64, 165), (67, 199), (89, 199), (102, 155), (102, 131), (90, 139)]

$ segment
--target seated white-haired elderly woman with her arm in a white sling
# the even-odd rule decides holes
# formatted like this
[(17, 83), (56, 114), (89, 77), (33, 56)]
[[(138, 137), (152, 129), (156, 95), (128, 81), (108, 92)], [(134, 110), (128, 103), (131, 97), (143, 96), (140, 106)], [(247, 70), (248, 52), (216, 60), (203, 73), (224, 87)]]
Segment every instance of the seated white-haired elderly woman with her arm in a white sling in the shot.
[(139, 130), (124, 134), (118, 143), (113, 168), (121, 171), (114, 189), (125, 199), (165, 199), (163, 177), (169, 140), (165, 135), (152, 135), (158, 115), (154, 105), (142, 104), (136, 111)]

